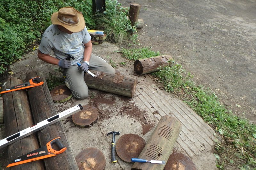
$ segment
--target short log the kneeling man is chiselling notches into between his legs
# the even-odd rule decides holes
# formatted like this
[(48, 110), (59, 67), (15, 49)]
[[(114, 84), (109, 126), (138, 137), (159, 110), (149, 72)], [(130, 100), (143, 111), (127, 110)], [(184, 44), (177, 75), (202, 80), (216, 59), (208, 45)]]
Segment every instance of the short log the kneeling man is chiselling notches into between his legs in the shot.
[(99, 71), (91, 70), (95, 77), (89, 73), (84, 75), (84, 81), (89, 88), (119, 94), (122, 96), (133, 97), (137, 79), (128, 78), (119, 74), (107, 74)]

